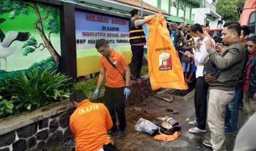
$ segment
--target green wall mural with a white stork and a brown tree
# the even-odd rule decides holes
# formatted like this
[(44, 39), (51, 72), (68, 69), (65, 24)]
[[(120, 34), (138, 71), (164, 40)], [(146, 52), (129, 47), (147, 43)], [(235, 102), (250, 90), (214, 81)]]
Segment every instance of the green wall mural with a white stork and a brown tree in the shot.
[(32, 67), (57, 69), (61, 59), (59, 8), (34, 1), (1, 1), (0, 40), (0, 79)]

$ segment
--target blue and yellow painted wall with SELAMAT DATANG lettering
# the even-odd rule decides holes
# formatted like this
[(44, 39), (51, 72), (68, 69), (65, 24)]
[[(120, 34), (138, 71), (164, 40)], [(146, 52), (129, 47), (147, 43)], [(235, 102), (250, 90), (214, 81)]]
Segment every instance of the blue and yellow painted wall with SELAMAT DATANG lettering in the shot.
[(77, 38), (77, 76), (100, 71), (101, 54), (95, 48), (97, 39), (106, 39), (111, 48), (120, 51), (128, 62), (132, 59), (129, 43), (129, 19), (75, 10)]

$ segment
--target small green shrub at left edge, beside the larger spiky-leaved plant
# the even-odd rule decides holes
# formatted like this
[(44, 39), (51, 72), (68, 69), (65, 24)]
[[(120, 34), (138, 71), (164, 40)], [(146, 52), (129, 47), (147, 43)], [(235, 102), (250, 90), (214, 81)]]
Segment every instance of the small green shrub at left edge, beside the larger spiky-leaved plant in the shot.
[(0, 95), (0, 117), (13, 113), (13, 103)]

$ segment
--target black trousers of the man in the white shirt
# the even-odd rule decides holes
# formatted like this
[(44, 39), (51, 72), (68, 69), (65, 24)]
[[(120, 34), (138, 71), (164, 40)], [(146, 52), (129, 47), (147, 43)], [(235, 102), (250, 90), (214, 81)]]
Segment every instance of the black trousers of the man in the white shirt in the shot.
[(197, 117), (198, 128), (205, 130), (206, 115), (207, 115), (207, 93), (209, 85), (205, 82), (204, 77), (197, 78), (197, 84), (195, 84), (195, 117)]

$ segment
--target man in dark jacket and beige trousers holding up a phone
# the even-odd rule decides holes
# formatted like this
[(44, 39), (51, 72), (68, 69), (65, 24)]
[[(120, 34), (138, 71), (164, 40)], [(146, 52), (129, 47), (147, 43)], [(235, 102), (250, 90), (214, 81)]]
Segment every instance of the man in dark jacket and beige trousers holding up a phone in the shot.
[(227, 45), (225, 51), (217, 53), (213, 42), (206, 40), (205, 46), (211, 61), (220, 69), (220, 75), (209, 83), (208, 125), (211, 139), (203, 141), (213, 150), (226, 150), (225, 111), (235, 97), (235, 86), (244, 63), (244, 46), (240, 40), (241, 26), (238, 22), (228, 22), (222, 31), (222, 39)]

